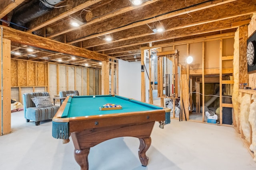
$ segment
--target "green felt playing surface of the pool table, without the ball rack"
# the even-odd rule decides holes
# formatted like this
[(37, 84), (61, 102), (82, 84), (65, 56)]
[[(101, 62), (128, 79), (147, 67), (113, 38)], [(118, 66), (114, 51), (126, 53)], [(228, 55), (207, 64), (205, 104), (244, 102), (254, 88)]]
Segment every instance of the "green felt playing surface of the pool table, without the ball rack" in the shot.
[[(67, 104), (62, 113), (62, 118), (163, 109), (163, 107), (115, 95), (99, 95), (95, 98), (93, 96), (73, 96), (65, 101)], [(108, 103), (121, 105), (122, 109), (100, 111), (99, 108)]]

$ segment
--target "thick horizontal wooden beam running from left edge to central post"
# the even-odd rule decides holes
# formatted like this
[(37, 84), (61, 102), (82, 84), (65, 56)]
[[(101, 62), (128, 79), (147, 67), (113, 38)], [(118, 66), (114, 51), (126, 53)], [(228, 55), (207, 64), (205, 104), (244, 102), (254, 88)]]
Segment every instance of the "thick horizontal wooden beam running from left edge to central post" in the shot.
[(81, 49), (74, 47), (72, 45), (67, 45), (65, 43), (60, 43), (58, 41), (50, 40), (44, 37), (26, 33), (23, 31), (18, 31), (10, 27), (3, 28), (3, 38), (10, 39), (11, 41), (22, 43), (25, 45), (31, 45), (34, 47), (56, 51), (59, 53), (66, 53), (70, 55), (76, 55), (86, 59), (94, 59), (98, 61), (107, 61), (108, 55), (103, 55), (86, 49)]

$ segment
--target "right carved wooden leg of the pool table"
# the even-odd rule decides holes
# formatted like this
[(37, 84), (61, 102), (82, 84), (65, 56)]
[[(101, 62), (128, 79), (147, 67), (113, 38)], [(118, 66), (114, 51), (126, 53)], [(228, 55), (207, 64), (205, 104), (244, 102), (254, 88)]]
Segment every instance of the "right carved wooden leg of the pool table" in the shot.
[(140, 147), (138, 150), (139, 158), (142, 166), (147, 166), (148, 164), (148, 156), (146, 156), (146, 151), (151, 145), (151, 137), (147, 138), (139, 138), (140, 140)]

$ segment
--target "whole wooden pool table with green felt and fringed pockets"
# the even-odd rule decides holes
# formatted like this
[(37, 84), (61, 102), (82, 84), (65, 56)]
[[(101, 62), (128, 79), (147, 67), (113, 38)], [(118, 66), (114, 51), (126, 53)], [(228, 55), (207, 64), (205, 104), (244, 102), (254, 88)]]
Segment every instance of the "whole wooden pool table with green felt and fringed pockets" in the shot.
[[(100, 110), (105, 104), (122, 109)], [(170, 123), (170, 109), (117, 95), (68, 96), (52, 119), (52, 136), (74, 143), (74, 158), (81, 170), (88, 170), (90, 147), (116, 137), (136, 137), (142, 166), (147, 166), (146, 151), (155, 121), (163, 128)]]

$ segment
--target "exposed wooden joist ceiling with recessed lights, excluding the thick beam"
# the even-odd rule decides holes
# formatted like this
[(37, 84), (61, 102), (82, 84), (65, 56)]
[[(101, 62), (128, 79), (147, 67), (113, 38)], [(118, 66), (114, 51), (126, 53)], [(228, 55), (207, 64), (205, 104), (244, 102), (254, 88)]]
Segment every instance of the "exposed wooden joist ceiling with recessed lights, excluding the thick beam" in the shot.
[[(58, 4), (51, 5), (54, 7), (47, 6), (50, 1), (1, 0), (2, 25), (125, 61), (140, 61), (142, 47), (234, 32), (248, 24), (250, 15), (256, 12), (256, 0), (144, 0), (139, 6), (130, 0), (58, 0)], [(33, 18), (35, 14), (27, 14), (28, 8), (23, 7), (27, 9), (24, 13), (18, 10), (28, 3), (49, 9), (45, 13), (34, 11), (42, 15)], [(16, 26), (10, 23), (23, 14), (22, 27), (17, 27), (21, 22)], [(72, 20), (82, 25), (74, 27)], [(162, 25), (164, 31), (154, 32), (157, 25)], [(105, 41), (106, 35), (112, 41)], [(14, 55), (14, 50), (22, 51), (22, 55)], [(17, 42), (12, 42), (12, 51), (13, 58), (76, 66), (88, 63), (92, 68), (101, 68), (100, 62), (92, 59), (72, 59), (73, 56), (42, 49), (28, 52), (25, 45)]]

